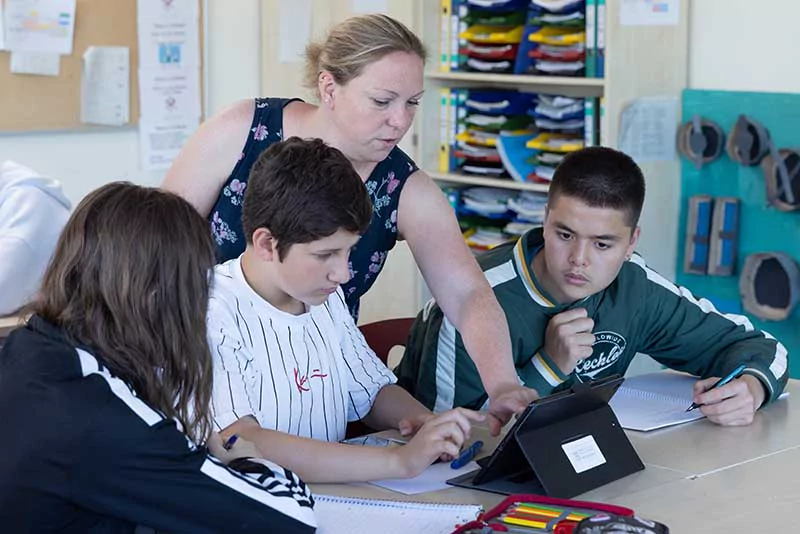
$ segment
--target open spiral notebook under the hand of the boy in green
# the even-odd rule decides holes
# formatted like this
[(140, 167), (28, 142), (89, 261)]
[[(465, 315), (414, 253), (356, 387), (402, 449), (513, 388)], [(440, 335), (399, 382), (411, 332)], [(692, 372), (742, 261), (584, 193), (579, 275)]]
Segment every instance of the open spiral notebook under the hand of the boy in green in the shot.
[(692, 404), (691, 375), (660, 371), (626, 378), (609, 404), (623, 428), (655, 430), (702, 419), (700, 410), (687, 412)]

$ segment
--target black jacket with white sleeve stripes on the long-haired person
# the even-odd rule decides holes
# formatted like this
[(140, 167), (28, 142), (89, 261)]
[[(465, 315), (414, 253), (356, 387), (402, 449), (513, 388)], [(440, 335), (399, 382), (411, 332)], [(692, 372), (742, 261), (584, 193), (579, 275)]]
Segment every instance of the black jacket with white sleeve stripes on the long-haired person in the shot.
[(4, 531), (315, 530), (296, 475), (225, 467), (39, 317), (0, 352), (0, 422)]

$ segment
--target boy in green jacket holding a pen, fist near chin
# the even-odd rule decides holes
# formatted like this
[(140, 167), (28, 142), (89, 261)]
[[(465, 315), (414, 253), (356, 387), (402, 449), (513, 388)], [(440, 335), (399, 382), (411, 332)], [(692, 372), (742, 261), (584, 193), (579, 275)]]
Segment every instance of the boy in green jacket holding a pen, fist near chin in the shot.
[[(788, 378), (786, 348), (739, 315), (723, 315), (634, 254), (644, 203), (641, 169), (592, 147), (564, 158), (545, 223), (478, 262), (508, 320), (520, 381), (540, 395), (624, 374), (637, 353), (703, 377), (694, 401), (720, 425), (747, 425)], [(710, 390), (745, 364), (741, 378)], [(434, 412), (485, 408), (487, 395), (461, 335), (431, 301), (395, 369)]]

